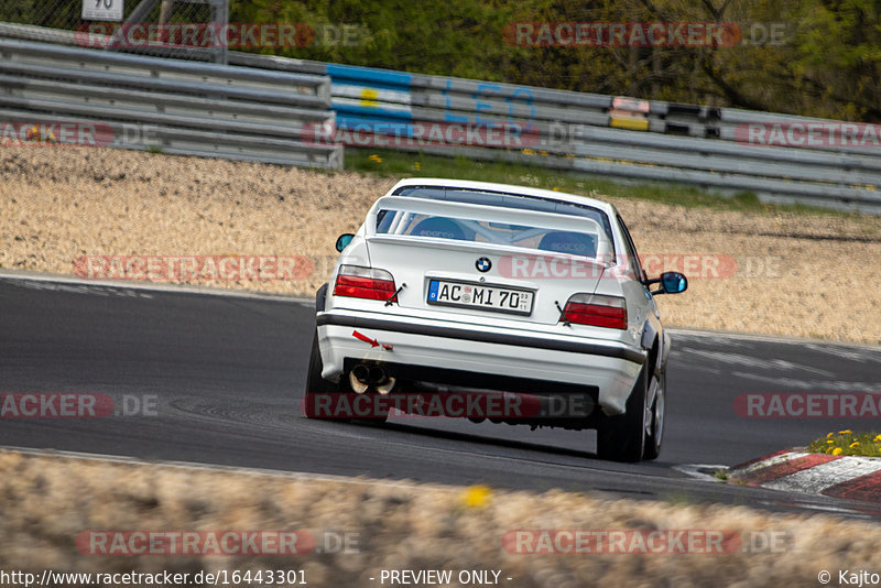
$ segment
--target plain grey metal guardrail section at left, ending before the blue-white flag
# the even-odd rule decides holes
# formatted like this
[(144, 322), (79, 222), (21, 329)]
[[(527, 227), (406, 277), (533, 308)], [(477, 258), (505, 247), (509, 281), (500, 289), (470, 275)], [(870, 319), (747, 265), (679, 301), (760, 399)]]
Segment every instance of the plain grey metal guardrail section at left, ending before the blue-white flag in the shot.
[(0, 121), (100, 123), (107, 146), (341, 168), (327, 76), (0, 39)]

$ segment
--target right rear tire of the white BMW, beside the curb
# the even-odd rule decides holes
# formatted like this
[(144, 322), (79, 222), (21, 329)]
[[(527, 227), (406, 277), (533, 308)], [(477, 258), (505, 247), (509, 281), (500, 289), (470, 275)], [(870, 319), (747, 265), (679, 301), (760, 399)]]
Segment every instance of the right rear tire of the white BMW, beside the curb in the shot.
[(597, 427), (597, 455), (609, 461), (639, 461), (645, 447), (648, 361), (627, 400), (627, 412), (607, 416)]

